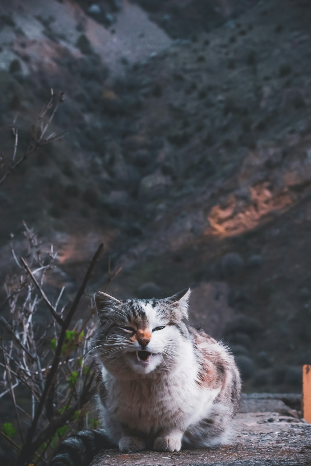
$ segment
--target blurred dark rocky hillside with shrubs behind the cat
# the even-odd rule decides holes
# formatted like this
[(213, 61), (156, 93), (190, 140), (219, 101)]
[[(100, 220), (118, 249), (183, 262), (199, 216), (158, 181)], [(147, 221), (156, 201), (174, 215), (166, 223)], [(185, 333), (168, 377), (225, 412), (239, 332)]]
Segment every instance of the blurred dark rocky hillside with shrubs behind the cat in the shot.
[(104, 239), (123, 266), (111, 293), (190, 285), (193, 320), (230, 344), (245, 390), (299, 391), (311, 363), (309, 2), (96, 5), (1, 2), (2, 150), (18, 112), (22, 151), (50, 88), (65, 91), (54, 129), (66, 130), (1, 186), (1, 271), (22, 219), (54, 242), (69, 281)]

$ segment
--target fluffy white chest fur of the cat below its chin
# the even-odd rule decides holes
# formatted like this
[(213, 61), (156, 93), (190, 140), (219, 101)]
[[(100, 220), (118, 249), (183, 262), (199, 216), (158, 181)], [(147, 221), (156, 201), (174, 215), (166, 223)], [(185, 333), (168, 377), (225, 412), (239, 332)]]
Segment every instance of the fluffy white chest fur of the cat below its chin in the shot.
[(121, 382), (108, 377), (105, 385), (108, 411), (120, 423), (146, 434), (196, 422), (219, 392), (200, 389), (196, 368), (188, 364), (159, 379)]

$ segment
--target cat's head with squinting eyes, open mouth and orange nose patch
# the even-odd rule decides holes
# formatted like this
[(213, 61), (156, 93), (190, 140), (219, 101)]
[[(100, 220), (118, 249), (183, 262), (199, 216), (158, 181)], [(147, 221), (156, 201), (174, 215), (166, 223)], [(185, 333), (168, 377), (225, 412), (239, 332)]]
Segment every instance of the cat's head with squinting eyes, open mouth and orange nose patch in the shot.
[(120, 376), (172, 370), (188, 337), (183, 319), (188, 318), (190, 293), (185, 289), (165, 299), (119, 301), (97, 292), (101, 325), (94, 347), (105, 368)]

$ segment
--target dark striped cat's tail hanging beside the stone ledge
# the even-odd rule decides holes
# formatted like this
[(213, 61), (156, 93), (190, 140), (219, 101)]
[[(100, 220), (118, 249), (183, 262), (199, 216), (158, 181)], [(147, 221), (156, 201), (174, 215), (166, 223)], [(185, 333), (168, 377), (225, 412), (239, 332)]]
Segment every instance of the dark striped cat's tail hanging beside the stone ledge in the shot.
[(104, 429), (81, 431), (61, 443), (49, 466), (88, 466), (104, 448), (116, 448)]

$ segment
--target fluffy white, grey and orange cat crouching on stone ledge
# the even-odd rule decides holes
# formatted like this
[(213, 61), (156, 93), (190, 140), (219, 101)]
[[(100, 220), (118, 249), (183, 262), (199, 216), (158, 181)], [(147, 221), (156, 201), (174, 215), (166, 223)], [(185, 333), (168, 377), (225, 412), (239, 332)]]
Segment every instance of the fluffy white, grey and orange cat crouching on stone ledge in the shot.
[(85, 466), (101, 449), (214, 447), (229, 442), (241, 380), (228, 349), (186, 325), (186, 289), (119, 301), (97, 292), (95, 336), (103, 428), (66, 439), (51, 466)]

